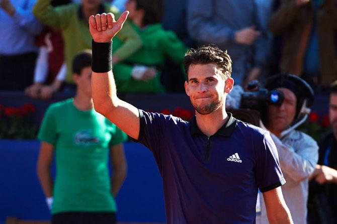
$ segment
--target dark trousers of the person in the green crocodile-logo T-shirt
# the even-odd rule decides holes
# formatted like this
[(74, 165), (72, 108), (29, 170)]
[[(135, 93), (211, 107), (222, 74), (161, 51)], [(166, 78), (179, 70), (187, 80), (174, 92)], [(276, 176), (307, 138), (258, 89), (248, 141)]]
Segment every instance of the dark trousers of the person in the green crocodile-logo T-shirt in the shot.
[(60, 212), (51, 216), (52, 224), (115, 224), (115, 212)]

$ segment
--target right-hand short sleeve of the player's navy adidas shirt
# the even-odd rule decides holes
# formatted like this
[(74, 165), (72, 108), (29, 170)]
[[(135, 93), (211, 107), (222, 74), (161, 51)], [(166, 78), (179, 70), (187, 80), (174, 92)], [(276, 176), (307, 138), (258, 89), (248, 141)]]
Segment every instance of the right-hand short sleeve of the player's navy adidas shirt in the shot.
[(257, 152), (256, 180), (261, 192), (266, 192), (283, 185), (283, 177), (276, 146), (267, 132), (262, 146)]

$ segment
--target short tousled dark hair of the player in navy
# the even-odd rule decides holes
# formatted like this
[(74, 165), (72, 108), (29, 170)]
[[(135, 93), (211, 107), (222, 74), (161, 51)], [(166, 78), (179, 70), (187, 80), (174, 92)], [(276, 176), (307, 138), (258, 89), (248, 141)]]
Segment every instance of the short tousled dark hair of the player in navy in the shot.
[(184, 57), (185, 72), (188, 75), (190, 65), (216, 64), (223, 73), (223, 79), (230, 77), (232, 73), (232, 60), (227, 51), (222, 51), (215, 45), (202, 46), (189, 50)]

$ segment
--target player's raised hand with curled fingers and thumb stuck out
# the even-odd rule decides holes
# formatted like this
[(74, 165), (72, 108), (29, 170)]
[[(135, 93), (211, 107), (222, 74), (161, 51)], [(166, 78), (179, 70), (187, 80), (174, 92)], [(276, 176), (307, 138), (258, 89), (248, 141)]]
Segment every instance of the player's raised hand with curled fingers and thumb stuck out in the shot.
[(122, 29), (128, 15), (129, 12), (125, 11), (117, 21), (115, 21), (115, 16), (112, 13), (90, 16), (89, 29), (93, 40), (101, 43), (110, 42), (118, 31)]

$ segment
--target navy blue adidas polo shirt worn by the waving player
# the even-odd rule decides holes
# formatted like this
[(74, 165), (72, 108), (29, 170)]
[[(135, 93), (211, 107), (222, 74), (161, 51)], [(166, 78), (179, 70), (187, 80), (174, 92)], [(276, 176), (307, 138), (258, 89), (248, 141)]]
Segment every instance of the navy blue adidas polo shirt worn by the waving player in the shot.
[(138, 141), (163, 180), (167, 223), (255, 223), (258, 188), (285, 183), (269, 132), (229, 119), (208, 138), (196, 118), (139, 110)]

